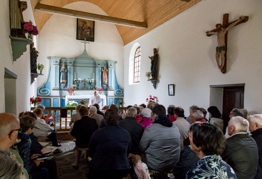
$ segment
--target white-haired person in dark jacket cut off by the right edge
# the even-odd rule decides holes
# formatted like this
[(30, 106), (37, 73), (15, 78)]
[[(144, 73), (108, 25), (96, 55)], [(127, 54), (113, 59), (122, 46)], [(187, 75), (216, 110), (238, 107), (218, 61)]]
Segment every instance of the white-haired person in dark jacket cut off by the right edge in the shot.
[(256, 141), (258, 148), (258, 165), (254, 179), (262, 178), (262, 114), (254, 114), (248, 117), (249, 131)]

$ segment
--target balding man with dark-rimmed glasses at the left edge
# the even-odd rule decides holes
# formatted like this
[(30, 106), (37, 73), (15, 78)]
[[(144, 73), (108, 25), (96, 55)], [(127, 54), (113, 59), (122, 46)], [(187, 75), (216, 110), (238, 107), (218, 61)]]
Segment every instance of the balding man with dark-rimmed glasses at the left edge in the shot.
[[(23, 160), (21, 159), (17, 148), (13, 146), (17, 140), (17, 134), (22, 129), (20, 128), (20, 122), (18, 118), (9, 113), (0, 113), (0, 150), (6, 151), (7, 155), (16, 160), (21, 167), (23, 166)], [(21, 178), (29, 178), (27, 170), (22, 167)]]

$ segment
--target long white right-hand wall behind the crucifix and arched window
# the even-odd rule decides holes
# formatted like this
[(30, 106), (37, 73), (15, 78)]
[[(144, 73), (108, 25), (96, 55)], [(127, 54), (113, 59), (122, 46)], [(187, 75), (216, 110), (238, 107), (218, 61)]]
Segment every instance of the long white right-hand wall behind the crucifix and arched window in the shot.
[[(141, 47), (140, 83), (129, 85), (129, 66), (124, 66), (126, 105), (146, 103), (149, 96), (157, 96), (159, 104), (181, 106), (185, 115), (197, 105), (207, 109), (210, 87), (215, 84), (245, 83), (244, 108), (250, 114), (262, 113), (262, 1), (257, 0), (202, 0), (190, 10), (124, 46), (124, 64), (129, 64), (134, 43)], [(217, 36), (206, 36), (206, 31), (222, 23), (223, 14), (229, 22), (241, 15), (249, 21), (228, 32), (227, 73), (222, 74), (215, 62)], [(147, 81), (150, 71), (148, 56), (153, 48), (159, 54), (159, 80), (155, 90)], [(168, 96), (168, 84), (175, 84), (175, 96)], [(218, 102), (220, 104), (220, 102)], [(208, 117), (208, 116), (207, 116)]]

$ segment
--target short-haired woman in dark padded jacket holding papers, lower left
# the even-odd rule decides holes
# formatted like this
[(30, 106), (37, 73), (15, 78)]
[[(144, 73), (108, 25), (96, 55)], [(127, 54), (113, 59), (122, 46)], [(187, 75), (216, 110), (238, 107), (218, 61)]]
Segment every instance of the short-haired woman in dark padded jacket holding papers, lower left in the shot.
[(46, 168), (38, 167), (41, 160), (35, 160), (39, 154), (31, 155), (31, 139), (30, 134), (36, 128), (36, 120), (30, 116), (22, 116), (19, 118), (20, 128), (22, 128), (21, 133), (18, 133), (17, 138), (20, 140), (19, 143), (15, 144), (17, 146), (19, 155), (24, 162), (24, 168), (27, 170), (31, 178), (44, 179), (48, 178), (48, 170)]

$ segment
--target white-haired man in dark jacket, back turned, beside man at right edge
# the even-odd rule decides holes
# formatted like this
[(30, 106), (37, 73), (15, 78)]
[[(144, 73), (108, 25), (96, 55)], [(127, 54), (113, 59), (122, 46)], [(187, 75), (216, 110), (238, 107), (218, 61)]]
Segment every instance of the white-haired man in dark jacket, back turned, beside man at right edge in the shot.
[(235, 116), (228, 122), (226, 148), (221, 154), (223, 161), (232, 167), (238, 179), (253, 179), (258, 164), (258, 150), (254, 139), (249, 136), (248, 120)]

